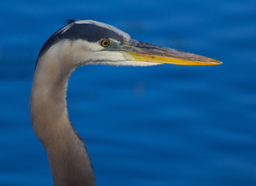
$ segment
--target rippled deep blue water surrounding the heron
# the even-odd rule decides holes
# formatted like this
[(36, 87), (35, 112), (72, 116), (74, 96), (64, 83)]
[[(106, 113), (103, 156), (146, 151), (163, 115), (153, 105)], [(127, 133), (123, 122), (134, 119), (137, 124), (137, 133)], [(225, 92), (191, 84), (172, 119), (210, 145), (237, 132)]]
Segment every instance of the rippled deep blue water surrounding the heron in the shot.
[(52, 185), (30, 122), (37, 54), (66, 19), (221, 66), (81, 67), (68, 111), (97, 185), (256, 185), (256, 2), (0, 2), (0, 185)]

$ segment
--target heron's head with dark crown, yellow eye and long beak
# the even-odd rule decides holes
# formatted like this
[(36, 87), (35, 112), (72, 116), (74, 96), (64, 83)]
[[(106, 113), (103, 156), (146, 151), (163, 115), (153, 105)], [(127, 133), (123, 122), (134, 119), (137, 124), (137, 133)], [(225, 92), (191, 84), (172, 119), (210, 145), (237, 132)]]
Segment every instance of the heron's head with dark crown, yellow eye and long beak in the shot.
[(117, 66), (221, 64), (219, 60), (209, 57), (132, 40), (128, 33), (92, 20), (76, 20), (59, 29), (44, 44), (39, 56), (56, 45), (59, 46), (55, 50), (61, 53), (61, 57), (67, 57), (76, 67), (85, 64)]

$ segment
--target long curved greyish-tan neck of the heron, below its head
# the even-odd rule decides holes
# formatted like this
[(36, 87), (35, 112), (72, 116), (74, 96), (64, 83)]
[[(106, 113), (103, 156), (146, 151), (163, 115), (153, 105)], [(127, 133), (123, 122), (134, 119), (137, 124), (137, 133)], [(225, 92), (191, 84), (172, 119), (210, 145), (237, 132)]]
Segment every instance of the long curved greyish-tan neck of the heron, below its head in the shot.
[(54, 185), (94, 186), (86, 147), (68, 118), (66, 90), (71, 73), (59, 73), (57, 57), (40, 58), (30, 96), (31, 121), (47, 151)]

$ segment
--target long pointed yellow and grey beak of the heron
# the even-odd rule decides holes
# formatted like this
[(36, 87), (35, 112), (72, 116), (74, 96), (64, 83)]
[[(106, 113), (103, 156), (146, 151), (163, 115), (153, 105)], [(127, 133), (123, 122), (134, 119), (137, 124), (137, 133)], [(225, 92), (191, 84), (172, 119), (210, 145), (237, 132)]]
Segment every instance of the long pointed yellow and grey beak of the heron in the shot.
[(121, 52), (127, 60), (143, 62), (199, 66), (222, 64), (219, 60), (209, 57), (143, 43), (138, 40), (130, 40), (128, 45), (122, 47)]

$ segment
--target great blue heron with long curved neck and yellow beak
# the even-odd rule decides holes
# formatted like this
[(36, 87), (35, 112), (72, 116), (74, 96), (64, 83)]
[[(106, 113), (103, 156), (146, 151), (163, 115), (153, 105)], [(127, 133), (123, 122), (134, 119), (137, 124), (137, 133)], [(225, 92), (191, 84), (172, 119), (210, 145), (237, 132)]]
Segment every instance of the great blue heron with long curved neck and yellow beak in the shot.
[(47, 151), (55, 186), (96, 185), (84, 142), (68, 118), (68, 78), (86, 64), (150, 66), (214, 65), (218, 60), (132, 40), (120, 29), (92, 20), (74, 20), (55, 32), (40, 50), (30, 95), (34, 132)]

